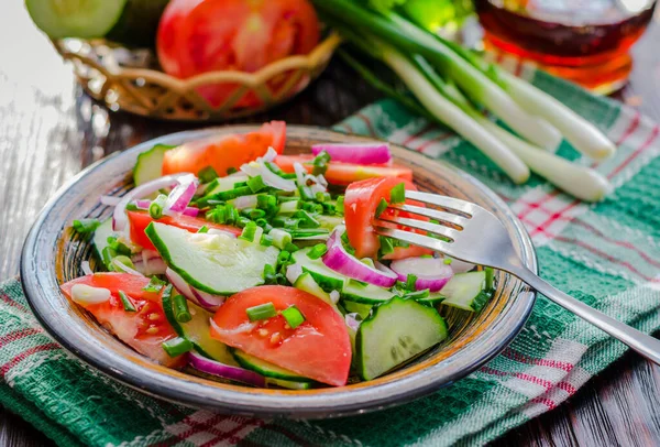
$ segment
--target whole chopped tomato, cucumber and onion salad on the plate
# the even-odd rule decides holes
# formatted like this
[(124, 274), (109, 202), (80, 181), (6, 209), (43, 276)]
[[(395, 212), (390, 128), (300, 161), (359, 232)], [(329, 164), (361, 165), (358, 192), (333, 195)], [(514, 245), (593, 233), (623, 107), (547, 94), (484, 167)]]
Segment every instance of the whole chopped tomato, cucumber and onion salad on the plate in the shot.
[[(479, 312), (488, 269), (378, 236), (405, 216), (413, 173), (386, 143), (284, 155), (286, 126), (155, 145), (135, 187), (79, 219), (97, 261), (62, 285), (141, 355), (254, 386), (372, 380), (449, 337), (447, 306)], [(394, 224), (393, 224), (394, 225)]]

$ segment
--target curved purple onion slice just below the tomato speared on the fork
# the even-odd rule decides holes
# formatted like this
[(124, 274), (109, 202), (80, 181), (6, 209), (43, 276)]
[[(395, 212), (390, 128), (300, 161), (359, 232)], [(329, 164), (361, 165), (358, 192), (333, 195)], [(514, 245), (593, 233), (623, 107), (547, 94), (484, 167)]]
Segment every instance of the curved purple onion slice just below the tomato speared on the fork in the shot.
[(363, 281), (380, 287), (392, 287), (396, 283), (397, 275), (394, 272), (388, 273), (373, 269), (361, 262), (358, 258), (349, 254), (341, 243), (343, 231), (344, 227), (338, 227), (330, 235), (328, 251), (322, 258), (323, 264), (353, 280)]

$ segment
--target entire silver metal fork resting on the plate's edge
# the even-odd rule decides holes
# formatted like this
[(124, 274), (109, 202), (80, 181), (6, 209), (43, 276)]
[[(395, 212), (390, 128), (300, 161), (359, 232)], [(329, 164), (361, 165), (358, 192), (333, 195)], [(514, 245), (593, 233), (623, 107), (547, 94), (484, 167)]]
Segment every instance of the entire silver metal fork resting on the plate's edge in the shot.
[[(439, 251), (461, 261), (504, 270), (519, 277), (550, 301), (628, 345), (641, 356), (660, 364), (660, 340), (640, 332), (593, 307), (559, 291), (531, 272), (516, 253), (504, 225), (492, 212), (479, 205), (436, 194), (406, 192), (406, 198), (440, 209), (416, 205), (391, 205), (389, 209), (435, 219), (438, 224), (396, 216), (381, 215), (374, 229), (382, 236)], [(392, 224), (436, 235), (441, 239), (402, 229), (387, 228)]]

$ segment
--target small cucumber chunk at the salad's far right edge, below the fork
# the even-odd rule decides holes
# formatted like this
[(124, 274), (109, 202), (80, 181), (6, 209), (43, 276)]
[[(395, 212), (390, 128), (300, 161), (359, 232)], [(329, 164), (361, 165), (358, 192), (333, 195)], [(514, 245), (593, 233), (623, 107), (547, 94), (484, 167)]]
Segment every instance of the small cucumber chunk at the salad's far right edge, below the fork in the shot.
[(491, 298), (486, 290), (486, 272), (458, 273), (444, 284), (440, 294), (447, 298), (442, 302), (446, 306), (480, 312)]

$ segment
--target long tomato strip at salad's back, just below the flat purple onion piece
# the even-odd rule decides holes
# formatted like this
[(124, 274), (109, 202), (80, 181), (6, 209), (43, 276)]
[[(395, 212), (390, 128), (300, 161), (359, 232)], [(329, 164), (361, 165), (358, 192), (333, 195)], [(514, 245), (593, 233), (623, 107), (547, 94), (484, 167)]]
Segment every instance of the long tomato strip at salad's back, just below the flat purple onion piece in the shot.
[[(286, 173), (294, 172), (294, 163), (300, 163), (308, 172), (314, 170), (311, 161), (314, 155), (278, 155), (275, 164)], [(361, 165), (351, 163), (328, 163), (326, 179), (333, 185), (349, 185), (372, 177), (398, 177), (413, 181), (413, 171), (405, 166), (393, 164), (386, 165)]]

